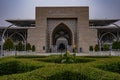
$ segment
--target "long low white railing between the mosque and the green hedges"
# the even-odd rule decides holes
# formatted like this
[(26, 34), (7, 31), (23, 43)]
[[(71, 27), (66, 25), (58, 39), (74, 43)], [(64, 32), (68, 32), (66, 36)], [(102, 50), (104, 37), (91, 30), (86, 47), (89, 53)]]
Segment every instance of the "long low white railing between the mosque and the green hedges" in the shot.
[[(15, 56), (15, 55), (60, 55), (61, 53), (38, 53), (32, 51), (4, 51), (4, 56)], [(64, 54), (64, 53), (62, 53)], [(73, 53), (71, 53), (73, 54)], [(99, 51), (89, 53), (76, 53), (77, 56), (120, 56), (120, 51)]]

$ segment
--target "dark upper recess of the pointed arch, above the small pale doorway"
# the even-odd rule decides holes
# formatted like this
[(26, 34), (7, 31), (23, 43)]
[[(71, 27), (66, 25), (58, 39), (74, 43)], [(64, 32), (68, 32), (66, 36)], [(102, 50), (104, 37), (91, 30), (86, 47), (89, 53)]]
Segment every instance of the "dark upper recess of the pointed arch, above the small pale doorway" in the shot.
[(56, 45), (58, 38), (64, 37), (68, 40), (68, 45), (72, 45), (72, 31), (64, 23), (57, 25), (52, 32), (52, 45)]

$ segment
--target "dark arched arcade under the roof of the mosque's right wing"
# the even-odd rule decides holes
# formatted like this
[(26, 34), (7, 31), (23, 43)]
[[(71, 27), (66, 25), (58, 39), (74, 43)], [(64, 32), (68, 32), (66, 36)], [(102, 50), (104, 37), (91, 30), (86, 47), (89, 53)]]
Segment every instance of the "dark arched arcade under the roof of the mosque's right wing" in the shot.
[(120, 29), (98, 29), (98, 44), (100, 49), (104, 44), (109, 45), (111, 49), (112, 43), (115, 41), (120, 41)]

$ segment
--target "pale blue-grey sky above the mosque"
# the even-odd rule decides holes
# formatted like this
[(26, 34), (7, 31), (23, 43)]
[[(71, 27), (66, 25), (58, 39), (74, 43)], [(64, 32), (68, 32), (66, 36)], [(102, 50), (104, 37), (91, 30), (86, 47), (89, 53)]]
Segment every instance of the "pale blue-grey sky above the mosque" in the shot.
[(120, 19), (120, 0), (0, 0), (0, 26), (6, 19), (35, 19), (36, 6), (89, 6), (90, 19)]

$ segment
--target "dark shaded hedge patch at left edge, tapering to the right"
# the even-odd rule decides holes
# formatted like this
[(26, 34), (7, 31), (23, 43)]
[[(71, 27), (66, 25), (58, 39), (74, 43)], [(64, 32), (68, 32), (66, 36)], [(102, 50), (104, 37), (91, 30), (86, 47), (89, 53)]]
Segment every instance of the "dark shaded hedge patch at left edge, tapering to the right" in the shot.
[(0, 76), (29, 72), (37, 68), (39, 68), (39, 66), (35, 66), (26, 62), (20, 62), (18, 60), (3, 61), (0, 62)]

